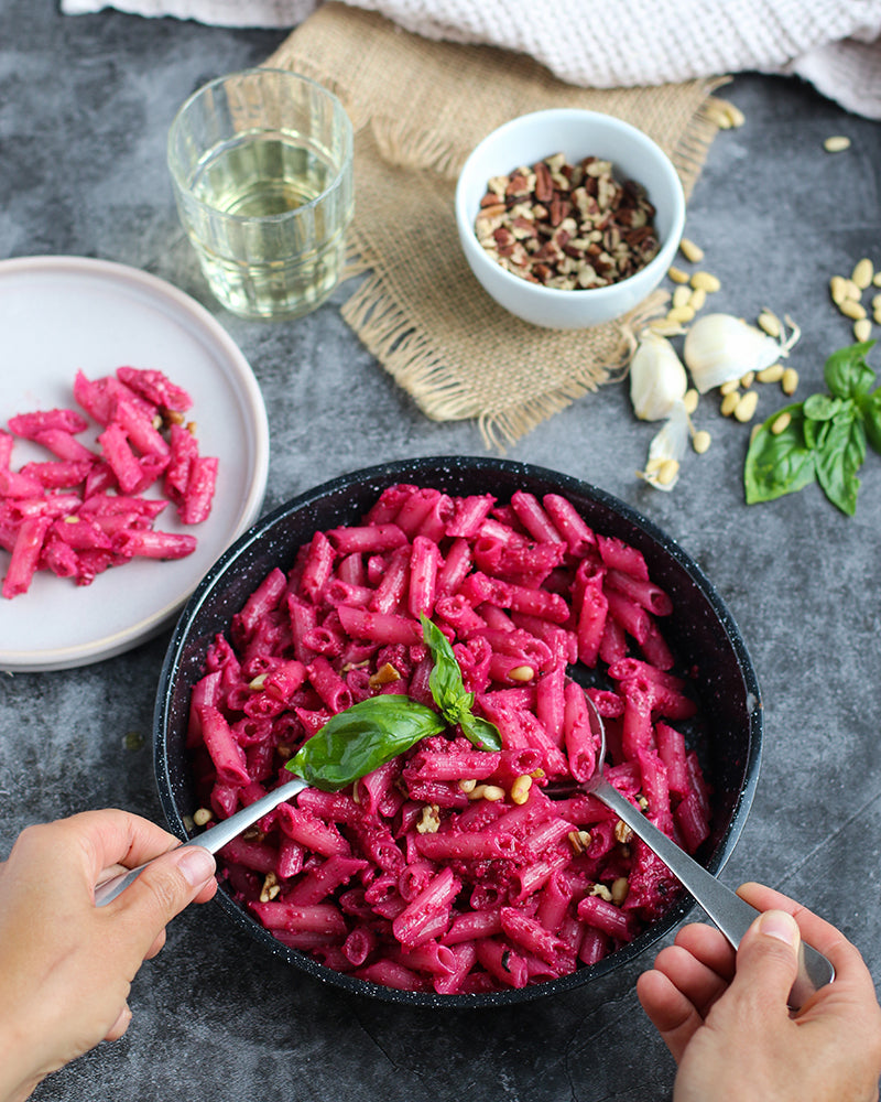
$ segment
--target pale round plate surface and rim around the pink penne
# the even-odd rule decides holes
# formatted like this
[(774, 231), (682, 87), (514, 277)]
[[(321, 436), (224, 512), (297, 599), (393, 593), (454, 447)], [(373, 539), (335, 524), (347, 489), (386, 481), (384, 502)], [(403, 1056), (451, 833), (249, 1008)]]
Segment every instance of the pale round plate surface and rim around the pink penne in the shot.
[[(220, 461), (206, 521), (182, 526), (170, 505), (154, 523), (196, 536), (186, 559), (132, 560), (87, 586), (41, 571), (26, 593), (0, 598), (0, 669), (85, 666), (159, 631), (257, 519), (269, 468), (263, 398), (244, 356), (203, 306), (122, 264), (76, 257), (0, 261), (0, 425), (30, 410), (77, 409), (77, 369), (95, 379), (121, 365), (151, 367), (189, 392), (199, 451)], [(98, 431), (78, 439), (91, 445)], [(13, 467), (31, 458), (52, 456), (17, 441)], [(9, 559), (0, 549), (0, 574)]]

